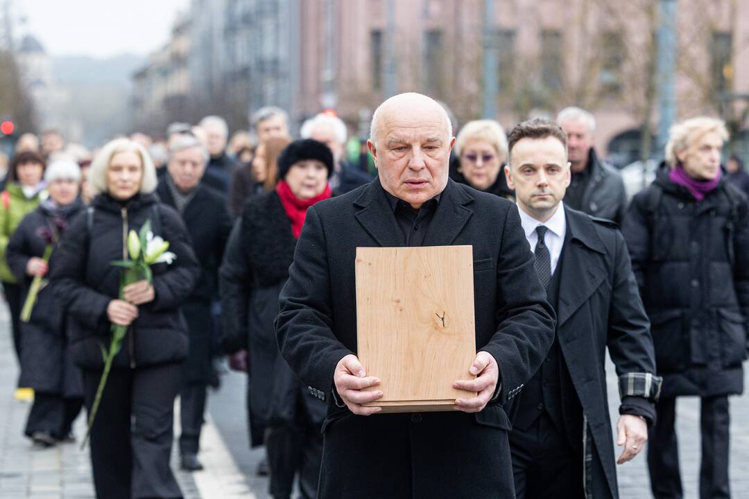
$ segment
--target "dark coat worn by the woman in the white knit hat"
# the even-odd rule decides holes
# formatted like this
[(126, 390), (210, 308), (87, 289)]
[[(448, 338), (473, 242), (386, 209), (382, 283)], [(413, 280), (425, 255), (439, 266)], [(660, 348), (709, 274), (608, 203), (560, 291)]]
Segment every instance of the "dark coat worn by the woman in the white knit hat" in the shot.
[[(70, 222), (84, 205), (76, 200), (60, 218)], [(5, 257), (7, 264), (21, 287), (21, 303), (25, 303), (32, 278), (26, 274), (26, 264), (31, 257), (43, 257), (46, 240), (40, 229), (57, 233), (55, 213), (39, 206), (28, 213), (19, 224)], [(44, 286), (28, 322), (21, 322), (21, 377), (19, 386), (28, 386), (44, 394), (63, 397), (82, 397), (83, 388), (79, 370), (73, 365), (70, 342), (65, 328), (65, 313), (60, 302)]]

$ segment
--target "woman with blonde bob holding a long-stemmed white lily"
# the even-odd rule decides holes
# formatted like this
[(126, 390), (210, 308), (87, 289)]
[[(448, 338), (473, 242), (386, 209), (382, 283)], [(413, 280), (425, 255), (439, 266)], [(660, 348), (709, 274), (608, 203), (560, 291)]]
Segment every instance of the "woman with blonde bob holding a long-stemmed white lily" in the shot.
[[(180, 216), (153, 193), (156, 168), (144, 147), (126, 138), (109, 142), (94, 159), (89, 182), (97, 195), (52, 254), (51, 279), (67, 310), (86, 408), (91, 415), (98, 407), (89, 420), (97, 497), (180, 498), (169, 468), (173, 405), (188, 346), (179, 307), (200, 267)], [(173, 254), (143, 263), (151, 254), (146, 239), (169, 242)], [(133, 262), (148, 263), (138, 280), (124, 268)], [(116, 354), (111, 370), (110, 353)]]

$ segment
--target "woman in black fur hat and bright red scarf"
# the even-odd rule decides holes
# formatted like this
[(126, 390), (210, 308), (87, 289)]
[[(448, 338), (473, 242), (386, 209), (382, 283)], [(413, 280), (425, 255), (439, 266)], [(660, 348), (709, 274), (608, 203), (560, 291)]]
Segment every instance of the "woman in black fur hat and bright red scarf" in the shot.
[[(219, 271), (222, 346), (235, 370), (248, 370), (250, 421), (264, 429), (270, 495), (314, 498), (322, 458), (326, 405), (281, 358), (273, 328), (279, 293), (309, 206), (330, 198), (333, 153), (312, 139), (294, 141), (278, 160), (275, 189), (249, 198), (234, 227)], [(258, 428), (259, 427), (259, 428)]]

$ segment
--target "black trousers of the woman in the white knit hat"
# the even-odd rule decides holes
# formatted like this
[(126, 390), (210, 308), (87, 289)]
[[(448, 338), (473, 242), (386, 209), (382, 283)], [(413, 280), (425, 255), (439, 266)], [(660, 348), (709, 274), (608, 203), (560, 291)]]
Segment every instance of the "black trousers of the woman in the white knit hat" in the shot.
[(26, 436), (43, 432), (54, 438), (65, 438), (83, 406), (83, 399), (64, 399), (59, 394), (34, 393), (34, 404), (28, 411)]

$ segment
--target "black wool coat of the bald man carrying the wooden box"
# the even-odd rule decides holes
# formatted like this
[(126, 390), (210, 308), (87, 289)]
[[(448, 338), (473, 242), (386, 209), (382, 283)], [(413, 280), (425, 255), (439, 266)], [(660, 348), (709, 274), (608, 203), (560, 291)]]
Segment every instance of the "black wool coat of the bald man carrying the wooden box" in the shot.
[(333, 371), (357, 352), (357, 246), (402, 246), (380, 181), (312, 206), (276, 331), (282, 355), (328, 405), (322, 498), (509, 498), (514, 495), (502, 404), (541, 365), (554, 338), (515, 205), (449, 180), (425, 245), (473, 245), (476, 346), (500, 367), (498, 397), (477, 414), (360, 417), (333, 397)]

